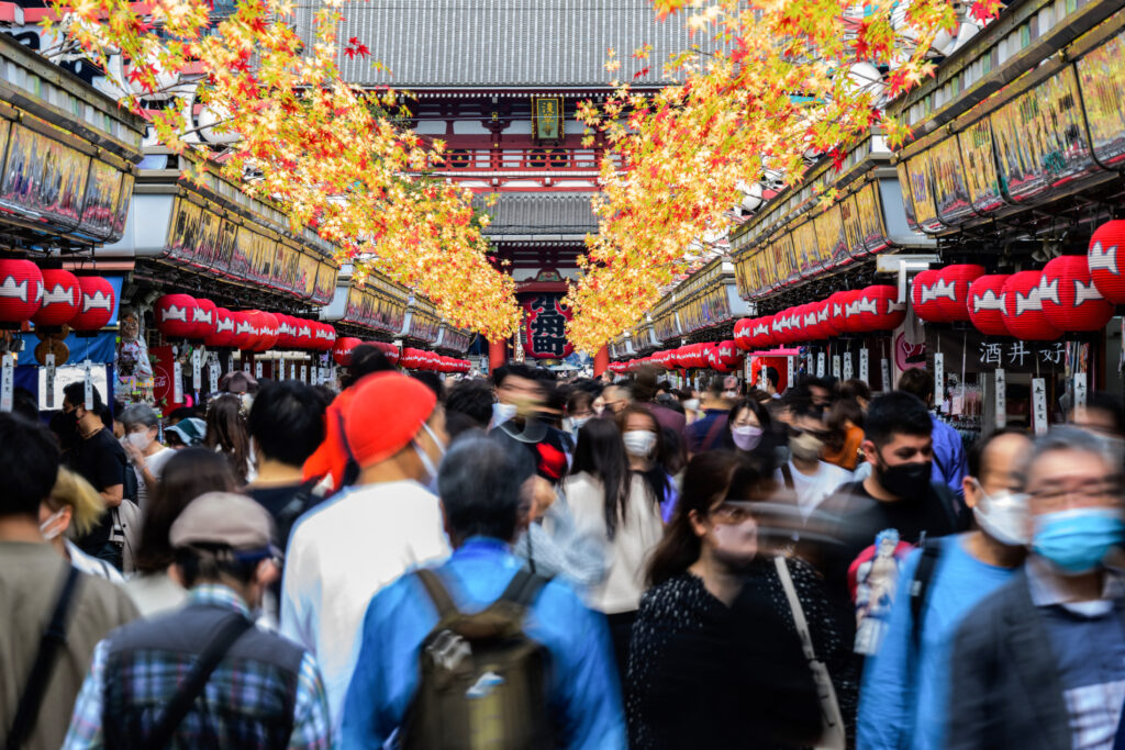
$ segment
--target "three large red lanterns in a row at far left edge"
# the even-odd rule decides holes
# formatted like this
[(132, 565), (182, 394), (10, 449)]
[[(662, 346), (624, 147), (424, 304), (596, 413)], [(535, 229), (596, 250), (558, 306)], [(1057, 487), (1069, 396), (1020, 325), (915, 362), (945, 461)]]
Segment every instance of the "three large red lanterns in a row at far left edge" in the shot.
[(0, 324), (32, 322), (100, 331), (114, 316), (114, 286), (101, 277), (76, 277), (62, 269), (40, 271), (32, 261), (0, 260)]

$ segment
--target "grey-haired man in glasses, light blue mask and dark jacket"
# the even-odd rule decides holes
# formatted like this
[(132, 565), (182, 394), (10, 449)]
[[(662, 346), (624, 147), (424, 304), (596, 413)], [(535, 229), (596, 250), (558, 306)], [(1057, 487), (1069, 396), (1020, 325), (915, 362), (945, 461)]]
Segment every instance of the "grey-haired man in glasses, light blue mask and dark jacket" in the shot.
[(1125, 701), (1120, 466), (1104, 439), (1059, 427), (1025, 473), (1030, 554), (957, 633), (946, 747), (1113, 748)]

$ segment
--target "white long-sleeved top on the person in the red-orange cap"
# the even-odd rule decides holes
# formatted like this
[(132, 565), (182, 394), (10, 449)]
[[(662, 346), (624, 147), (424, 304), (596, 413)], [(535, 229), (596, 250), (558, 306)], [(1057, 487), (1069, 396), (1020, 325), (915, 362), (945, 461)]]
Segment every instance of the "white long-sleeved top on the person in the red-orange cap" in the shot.
[(316, 657), (336, 730), (371, 597), (449, 553), (438, 497), (416, 481), (345, 490), (297, 522), (281, 581), (281, 634)]

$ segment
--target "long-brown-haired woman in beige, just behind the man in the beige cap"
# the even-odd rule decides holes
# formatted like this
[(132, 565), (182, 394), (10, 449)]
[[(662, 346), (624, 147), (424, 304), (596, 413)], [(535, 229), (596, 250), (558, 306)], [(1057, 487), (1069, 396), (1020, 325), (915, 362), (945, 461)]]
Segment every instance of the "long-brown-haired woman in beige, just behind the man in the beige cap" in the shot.
[(168, 460), (141, 522), (137, 575), (125, 585), (142, 615), (147, 617), (174, 608), (187, 596), (187, 591), (168, 577), (168, 568), (173, 561), (168, 534), (180, 512), (200, 495), (233, 493), (237, 488), (226, 458), (215, 451), (184, 448)]

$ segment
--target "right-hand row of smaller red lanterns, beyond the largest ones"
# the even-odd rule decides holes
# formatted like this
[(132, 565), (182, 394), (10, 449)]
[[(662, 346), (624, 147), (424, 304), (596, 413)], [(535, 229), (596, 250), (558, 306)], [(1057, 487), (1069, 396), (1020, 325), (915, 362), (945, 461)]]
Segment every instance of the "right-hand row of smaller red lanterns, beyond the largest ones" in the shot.
[(874, 284), (838, 291), (828, 299), (790, 307), (775, 315), (742, 318), (735, 325), (735, 345), (750, 351), (843, 334), (893, 331), (906, 319), (906, 314), (896, 287)]

